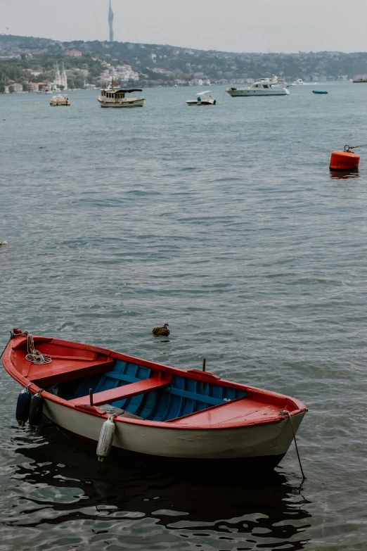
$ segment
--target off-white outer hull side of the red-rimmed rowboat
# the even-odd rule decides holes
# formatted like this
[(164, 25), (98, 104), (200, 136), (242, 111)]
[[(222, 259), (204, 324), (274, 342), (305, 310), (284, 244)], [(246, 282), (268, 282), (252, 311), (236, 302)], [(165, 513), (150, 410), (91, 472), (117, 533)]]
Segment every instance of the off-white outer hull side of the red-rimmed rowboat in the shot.
[[(105, 418), (44, 400), (44, 413), (67, 433), (97, 444)], [(292, 416), (295, 431), (304, 412)], [(235, 459), (283, 457), (292, 443), (288, 417), (278, 423), (228, 429), (176, 429), (146, 426), (139, 422), (115, 421), (113, 447), (129, 452), (185, 459)], [(279, 460), (280, 460), (279, 459)]]

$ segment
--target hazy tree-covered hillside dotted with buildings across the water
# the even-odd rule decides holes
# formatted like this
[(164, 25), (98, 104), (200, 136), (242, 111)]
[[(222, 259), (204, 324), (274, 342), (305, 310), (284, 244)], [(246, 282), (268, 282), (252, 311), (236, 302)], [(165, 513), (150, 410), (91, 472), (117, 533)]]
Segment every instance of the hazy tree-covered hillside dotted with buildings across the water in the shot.
[[(77, 51), (75, 57), (70, 56), (70, 50)], [(65, 63), (70, 87), (82, 87), (84, 80), (101, 85), (112, 76), (141, 86), (172, 86), (207, 80), (212, 84), (244, 83), (272, 75), (280, 75), (287, 82), (297, 78), (347, 80), (367, 73), (366, 52), (233, 53), (162, 44), (0, 37), (0, 86), (20, 80), (24, 70), (41, 70), (34, 79), (51, 78), (56, 62)]]

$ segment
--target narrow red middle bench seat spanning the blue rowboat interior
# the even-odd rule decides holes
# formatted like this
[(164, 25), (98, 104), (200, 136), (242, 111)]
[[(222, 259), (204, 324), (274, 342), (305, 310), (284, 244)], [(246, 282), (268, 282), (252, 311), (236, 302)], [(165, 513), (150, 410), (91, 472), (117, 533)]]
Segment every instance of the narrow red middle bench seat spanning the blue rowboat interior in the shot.
[[(108, 391), (101, 391), (94, 394), (93, 404), (109, 404), (116, 402), (117, 400), (124, 400), (124, 398), (132, 398), (138, 394), (157, 391), (159, 388), (165, 388), (168, 386), (170, 382), (170, 378), (159, 379), (158, 377), (150, 377), (150, 379), (143, 379), (143, 381), (138, 381), (136, 383), (117, 386), (117, 388), (110, 388)], [(74, 400), (68, 400), (67, 403), (72, 405), (89, 404), (89, 395), (82, 396), (82, 398), (74, 398)]]

